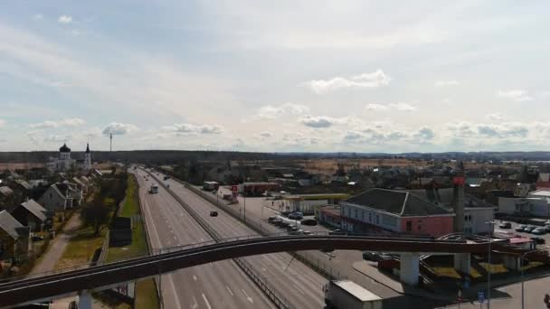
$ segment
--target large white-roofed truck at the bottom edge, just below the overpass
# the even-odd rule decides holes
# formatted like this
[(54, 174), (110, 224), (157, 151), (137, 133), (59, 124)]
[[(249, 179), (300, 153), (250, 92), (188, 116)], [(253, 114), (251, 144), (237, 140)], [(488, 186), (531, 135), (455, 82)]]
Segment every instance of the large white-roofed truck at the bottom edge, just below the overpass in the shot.
[(323, 288), (327, 308), (382, 309), (382, 298), (349, 280), (333, 280)]

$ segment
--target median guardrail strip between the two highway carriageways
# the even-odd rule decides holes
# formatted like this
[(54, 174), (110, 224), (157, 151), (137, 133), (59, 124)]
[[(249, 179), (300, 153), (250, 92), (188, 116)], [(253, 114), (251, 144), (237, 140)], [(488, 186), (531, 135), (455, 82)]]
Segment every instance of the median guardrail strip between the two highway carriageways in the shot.
[[(165, 183), (161, 182), (158, 178), (156, 178), (156, 176), (153, 173), (149, 173), (149, 172), (147, 173), (151, 177), (153, 177), (156, 180), (156, 182), (159, 183), (166, 190), (166, 192), (170, 193), (170, 195), (172, 195), (175, 201), (179, 202), (184, 207), (185, 211), (187, 211), (187, 213), (189, 213), (189, 215), (204, 229), (204, 231), (206, 231), (206, 233), (208, 233), (212, 237), (213, 242), (215, 243), (224, 242), (224, 241), (221, 241), (221, 239), (223, 238), (214, 229), (212, 229), (210, 225), (206, 223), (203, 220), (203, 218), (196, 213), (196, 211), (193, 210), (193, 208), (191, 208), (185, 201), (183, 201), (179, 196), (177, 196), (175, 192), (170, 190), (170, 188), (168, 188)], [(262, 237), (253, 236), (251, 238), (258, 239)], [(258, 286), (261, 289), (261, 291), (266, 296), (268, 296), (268, 298), (270, 298), (270, 301), (273, 304), (275, 304), (278, 308), (280, 309), (292, 308), (291, 305), (289, 304), (289, 301), (286, 298), (283, 298), (282, 296), (275, 294), (275, 292), (273, 292), (272, 287), (270, 287), (270, 285), (268, 284), (267, 280), (265, 279), (261, 280), (261, 277), (254, 272), (252, 267), (249, 266), (248, 263), (246, 263), (246, 261), (244, 261), (242, 258), (233, 258), (233, 261), (235, 262), (235, 264), (237, 264), (238, 267), (242, 269), (242, 271), (244, 272), (244, 274), (246, 274), (246, 276), (251, 278), (252, 282), (256, 286)]]

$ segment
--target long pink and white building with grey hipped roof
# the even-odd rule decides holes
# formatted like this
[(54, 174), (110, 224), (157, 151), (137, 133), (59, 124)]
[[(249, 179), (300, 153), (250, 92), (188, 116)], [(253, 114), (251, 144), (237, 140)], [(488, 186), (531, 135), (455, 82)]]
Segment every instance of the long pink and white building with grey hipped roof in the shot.
[(375, 188), (340, 205), (341, 228), (356, 233), (440, 237), (453, 230), (454, 213), (410, 192)]

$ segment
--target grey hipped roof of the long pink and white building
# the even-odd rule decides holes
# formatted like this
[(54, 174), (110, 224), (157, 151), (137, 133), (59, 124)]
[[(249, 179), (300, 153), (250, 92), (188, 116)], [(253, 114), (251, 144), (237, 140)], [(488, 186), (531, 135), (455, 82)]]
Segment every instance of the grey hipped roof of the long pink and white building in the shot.
[(374, 188), (345, 200), (359, 206), (394, 213), (402, 217), (451, 215), (452, 213), (431, 201), (406, 191)]

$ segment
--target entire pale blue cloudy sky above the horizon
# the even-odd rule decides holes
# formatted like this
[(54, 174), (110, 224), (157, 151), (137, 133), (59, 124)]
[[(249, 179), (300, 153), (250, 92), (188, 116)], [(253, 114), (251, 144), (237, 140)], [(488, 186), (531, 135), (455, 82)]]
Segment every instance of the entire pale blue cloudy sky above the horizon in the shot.
[(0, 151), (548, 150), (547, 1), (0, 3)]

